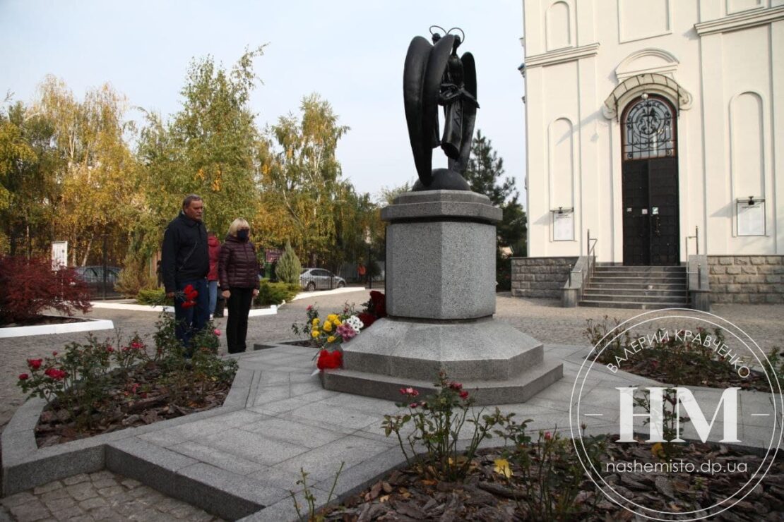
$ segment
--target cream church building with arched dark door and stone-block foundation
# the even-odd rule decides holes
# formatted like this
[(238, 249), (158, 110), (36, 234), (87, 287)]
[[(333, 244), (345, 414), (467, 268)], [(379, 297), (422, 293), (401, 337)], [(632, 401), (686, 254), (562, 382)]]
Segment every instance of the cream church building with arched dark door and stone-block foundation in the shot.
[(513, 293), (560, 295), (593, 248), (604, 270), (700, 265), (713, 302), (784, 302), (784, 0), (523, 6)]

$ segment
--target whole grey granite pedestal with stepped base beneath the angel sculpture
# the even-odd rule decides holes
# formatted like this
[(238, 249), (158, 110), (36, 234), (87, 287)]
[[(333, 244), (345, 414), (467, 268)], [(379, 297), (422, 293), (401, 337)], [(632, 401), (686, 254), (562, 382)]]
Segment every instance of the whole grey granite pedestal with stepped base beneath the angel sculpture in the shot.
[(526, 401), (563, 375), (543, 345), (496, 321), (495, 223), (487, 196), (433, 190), (398, 196), (387, 225), (387, 319), (343, 344), (328, 390), (399, 400), (433, 390), (439, 372), (474, 390), (477, 404)]

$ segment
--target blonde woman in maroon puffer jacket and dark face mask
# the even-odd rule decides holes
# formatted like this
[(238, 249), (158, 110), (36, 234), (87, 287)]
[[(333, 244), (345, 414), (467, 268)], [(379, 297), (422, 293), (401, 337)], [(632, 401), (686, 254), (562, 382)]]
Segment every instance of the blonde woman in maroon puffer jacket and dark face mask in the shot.
[(248, 312), (253, 297), (259, 295), (259, 261), (250, 242), (250, 226), (242, 218), (231, 222), (229, 235), (220, 247), (218, 280), (229, 311), (226, 341), (229, 353), (236, 354), (245, 351)]

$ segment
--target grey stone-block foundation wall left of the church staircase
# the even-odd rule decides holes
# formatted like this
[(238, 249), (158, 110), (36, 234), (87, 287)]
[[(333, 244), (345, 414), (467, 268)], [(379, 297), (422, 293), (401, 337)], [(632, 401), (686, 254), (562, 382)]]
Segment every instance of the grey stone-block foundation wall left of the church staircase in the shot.
[(512, 257), (512, 295), (561, 299), (577, 257)]

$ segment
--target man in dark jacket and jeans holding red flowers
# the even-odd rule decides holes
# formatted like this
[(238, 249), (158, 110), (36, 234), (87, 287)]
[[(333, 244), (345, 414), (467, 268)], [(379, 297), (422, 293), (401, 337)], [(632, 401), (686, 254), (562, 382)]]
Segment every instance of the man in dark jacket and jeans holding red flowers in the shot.
[[(163, 235), (163, 285), (166, 297), (177, 295), (174, 300), (175, 332), (187, 352), (191, 351), (191, 337), (209, 320), (209, 250), (207, 229), (201, 222), (202, 211), (201, 197), (186, 196), (183, 211), (169, 223)], [(192, 298), (187, 297), (186, 289), (192, 289)]]

